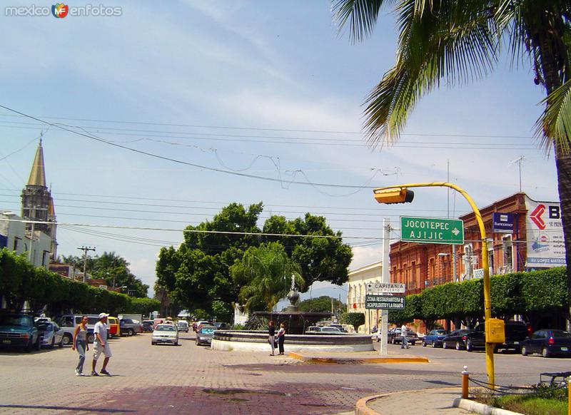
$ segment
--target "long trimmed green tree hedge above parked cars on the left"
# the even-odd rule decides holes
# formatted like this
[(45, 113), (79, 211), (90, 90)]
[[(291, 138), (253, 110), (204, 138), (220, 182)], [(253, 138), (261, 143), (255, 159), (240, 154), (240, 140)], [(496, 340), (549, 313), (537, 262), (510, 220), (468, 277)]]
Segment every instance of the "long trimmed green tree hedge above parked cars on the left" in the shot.
[(0, 250), (0, 296), (9, 309), (21, 309), (27, 301), (32, 311), (40, 312), (47, 306), (52, 315), (72, 310), (148, 314), (159, 305), (156, 299), (129, 297), (69, 280), (43, 267), (34, 268), (26, 258), (6, 248)]

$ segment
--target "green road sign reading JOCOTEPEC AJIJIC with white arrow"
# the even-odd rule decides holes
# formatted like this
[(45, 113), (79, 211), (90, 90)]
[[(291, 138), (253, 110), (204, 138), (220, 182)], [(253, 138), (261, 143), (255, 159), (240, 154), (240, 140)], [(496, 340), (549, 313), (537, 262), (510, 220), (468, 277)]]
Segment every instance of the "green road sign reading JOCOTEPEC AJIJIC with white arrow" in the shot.
[(400, 240), (430, 244), (464, 243), (464, 222), (439, 217), (400, 217)]

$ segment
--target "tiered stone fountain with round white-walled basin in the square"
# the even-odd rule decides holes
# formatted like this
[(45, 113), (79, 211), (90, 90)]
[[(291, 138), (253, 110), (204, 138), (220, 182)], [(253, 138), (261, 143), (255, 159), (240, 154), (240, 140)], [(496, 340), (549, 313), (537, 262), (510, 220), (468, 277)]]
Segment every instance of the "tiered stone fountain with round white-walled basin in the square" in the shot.
[[(287, 295), (290, 305), (281, 312), (253, 312), (253, 319), (265, 317), (276, 322), (276, 327), (285, 325), (285, 343), (290, 352), (330, 351), (330, 352), (365, 352), (373, 350), (373, 341), (369, 335), (359, 334), (304, 334), (305, 329), (316, 322), (331, 317), (328, 312), (301, 312), (295, 305), (299, 292), (295, 288), (293, 275), (291, 290)], [(266, 330), (216, 330), (211, 349), (256, 351), (268, 349), (268, 332)]]

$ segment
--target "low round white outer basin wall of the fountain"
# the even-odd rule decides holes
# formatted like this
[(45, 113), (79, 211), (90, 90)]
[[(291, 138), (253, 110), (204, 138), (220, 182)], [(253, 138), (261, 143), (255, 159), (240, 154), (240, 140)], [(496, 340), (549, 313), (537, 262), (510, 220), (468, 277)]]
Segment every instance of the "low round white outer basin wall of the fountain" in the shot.
[[(268, 332), (261, 330), (216, 330), (213, 350), (269, 352)], [(285, 334), (286, 352), (369, 352), (373, 340), (363, 334)]]

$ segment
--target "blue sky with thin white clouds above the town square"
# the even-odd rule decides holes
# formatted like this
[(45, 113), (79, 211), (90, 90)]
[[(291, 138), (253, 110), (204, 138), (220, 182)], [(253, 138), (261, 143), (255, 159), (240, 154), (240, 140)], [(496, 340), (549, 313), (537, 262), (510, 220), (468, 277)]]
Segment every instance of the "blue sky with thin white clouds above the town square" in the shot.
[[(354, 270), (381, 260), (383, 218), (397, 239), (400, 215), (470, 210), (438, 188), (379, 205), (372, 188), (449, 178), (483, 207), (519, 191), (521, 177), (530, 198), (559, 200), (553, 155), (533, 138), (544, 92), (525, 62), (506, 57), (482, 81), (443, 83), (395, 145), (373, 149), (363, 101), (394, 64), (389, 9), (353, 44), (328, 1), (103, 6), (120, 15), (9, 16), (1, 6), (0, 106), (37, 119), (0, 108), (0, 210), (19, 212), (42, 135), (57, 220), (68, 224), (59, 255), (116, 252), (150, 294), (160, 248), (233, 202), (263, 201), (262, 222), (325, 216), (353, 247)], [(302, 299), (322, 294), (345, 301), (346, 285), (316, 283)]]

